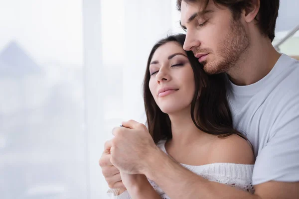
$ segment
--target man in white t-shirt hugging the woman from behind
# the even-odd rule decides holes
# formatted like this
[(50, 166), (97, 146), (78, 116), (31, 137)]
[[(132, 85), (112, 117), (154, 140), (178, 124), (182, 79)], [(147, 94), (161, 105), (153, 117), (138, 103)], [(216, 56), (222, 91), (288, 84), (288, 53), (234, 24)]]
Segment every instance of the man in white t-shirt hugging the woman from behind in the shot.
[(112, 155), (104, 152), (100, 160), (110, 187), (122, 187), (115, 165), (146, 175), (171, 199), (299, 199), (299, 62), (271, 43), (279, 0), (177, 0), (177, 7), (184, 49), (206, 73), (228, 74), (234, 127), (254, 148), (255, 194), (185, 170), (160, 153), (135, 121), (114, 129), (115, 139), (105, 147)]

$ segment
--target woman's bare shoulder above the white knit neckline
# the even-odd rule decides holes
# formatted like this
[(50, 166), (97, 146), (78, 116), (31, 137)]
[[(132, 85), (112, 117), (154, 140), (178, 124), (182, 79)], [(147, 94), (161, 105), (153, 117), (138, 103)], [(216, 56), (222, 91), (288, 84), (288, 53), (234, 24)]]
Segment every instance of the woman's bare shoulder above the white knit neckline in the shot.
[(230, 135), (217, 138), (212, 144), (209, 163), (254, 164), (254, 154), (247, 140)]

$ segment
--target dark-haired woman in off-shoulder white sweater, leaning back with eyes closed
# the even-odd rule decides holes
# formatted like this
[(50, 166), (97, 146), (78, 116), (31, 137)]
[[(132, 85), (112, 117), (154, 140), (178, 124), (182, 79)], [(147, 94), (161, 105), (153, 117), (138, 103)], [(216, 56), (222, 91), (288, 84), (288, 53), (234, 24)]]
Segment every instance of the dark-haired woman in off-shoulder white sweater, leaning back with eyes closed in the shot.
[[(253, 192), (254, 156), (232, 127), (225, 74), (206, 75), (193, 53), (183, 50), (184, 40), (184, 34), (169, 36), (149, 54), (144, 79), (149, 133), (164, 153), (193, 173)], [(230, 156), (226, 146), (238, 155)], [(112, 197), (169, 199), (145, 176), (120, 173), (128, 191)], [(138, 195), (129, 187), (132, 181), (143, 187)]]

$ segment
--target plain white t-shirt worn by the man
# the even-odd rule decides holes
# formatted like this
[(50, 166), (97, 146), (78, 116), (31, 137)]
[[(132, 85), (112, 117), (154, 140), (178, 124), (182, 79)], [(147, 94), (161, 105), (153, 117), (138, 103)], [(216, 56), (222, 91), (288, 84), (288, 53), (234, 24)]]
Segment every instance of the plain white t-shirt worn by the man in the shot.
[(253, 185), (299, 182), (299, 61), (283, 54), (257, 83), (229, 85), (234, 128), (246, 134), (257, 158)]

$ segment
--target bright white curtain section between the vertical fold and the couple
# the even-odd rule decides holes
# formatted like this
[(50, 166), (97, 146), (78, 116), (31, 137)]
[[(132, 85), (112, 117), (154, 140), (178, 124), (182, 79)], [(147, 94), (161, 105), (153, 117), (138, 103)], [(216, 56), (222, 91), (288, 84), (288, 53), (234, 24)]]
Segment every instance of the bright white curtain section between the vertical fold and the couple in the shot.
[(90, 193), (105, 199), (108, 186), (97, 162), (104, 142), (121, 121), (146, 121), (148, 55), (157, 40), (180, 31), (179, 15), (175, 0), (84, 0), (83, 13)]

